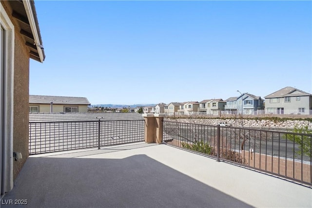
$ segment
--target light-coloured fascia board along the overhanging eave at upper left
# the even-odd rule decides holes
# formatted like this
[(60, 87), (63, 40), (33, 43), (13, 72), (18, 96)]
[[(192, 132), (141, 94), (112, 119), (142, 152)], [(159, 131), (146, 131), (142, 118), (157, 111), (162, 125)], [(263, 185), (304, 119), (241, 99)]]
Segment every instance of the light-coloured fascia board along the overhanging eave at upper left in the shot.
[(36, 25), (36, 21), (35, 21), (34, 11), (32, 9), (32, 5), (31, 5), (31, 1), (30, 0), (23, 0), (23, 4), (24, 4), (24, 7), (25, 7), (25, 11), (26, 11), (26, 14), (27, 14), (27, 18), (28, 18), (28, 21), (29, 21), (29, 25), (30, 25), (31, 31), (33, 32), (33, 36), (34, 36), (34, 39), (35, 39), (35, 44), (36, 44), (36, 47), (37, 47), (37, 51), (39, 53), (40, 62), (43, 63), (43, 53), (42, 53), (42, 50), (41, 50), (42, 43), (40, 43), (40, 40), (39, 40), (39, 33), (38, 33), (38, 30), (37, 30), (37, 25)]

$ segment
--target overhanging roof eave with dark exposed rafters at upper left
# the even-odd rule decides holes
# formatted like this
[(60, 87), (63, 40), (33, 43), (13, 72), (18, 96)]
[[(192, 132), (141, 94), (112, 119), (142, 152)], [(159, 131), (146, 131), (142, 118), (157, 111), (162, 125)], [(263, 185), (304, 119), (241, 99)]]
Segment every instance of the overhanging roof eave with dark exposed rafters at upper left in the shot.
[(19, 24), (19, 31), (29, 49), (30, 58), (43, 62), (45, 55), (34, 1), (10, 0), (8, 3), (12, 8), (12, 17)]

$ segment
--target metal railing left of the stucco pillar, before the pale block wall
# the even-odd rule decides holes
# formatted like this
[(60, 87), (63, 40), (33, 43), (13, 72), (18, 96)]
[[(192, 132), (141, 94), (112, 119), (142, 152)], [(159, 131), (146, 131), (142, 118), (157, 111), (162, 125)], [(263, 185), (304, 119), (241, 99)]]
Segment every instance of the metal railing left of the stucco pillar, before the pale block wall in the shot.
[(144, 141), (144, 120), (29, 122), (29, 154)]

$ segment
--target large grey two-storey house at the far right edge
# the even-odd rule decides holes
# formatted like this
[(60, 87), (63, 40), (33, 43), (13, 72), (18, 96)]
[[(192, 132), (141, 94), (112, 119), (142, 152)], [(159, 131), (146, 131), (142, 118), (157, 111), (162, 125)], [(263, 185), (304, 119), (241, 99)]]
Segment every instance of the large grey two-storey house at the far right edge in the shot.
[(284, 87), (265, 98), (266, 113), (311, 114), (312, 95), (293, 87)]

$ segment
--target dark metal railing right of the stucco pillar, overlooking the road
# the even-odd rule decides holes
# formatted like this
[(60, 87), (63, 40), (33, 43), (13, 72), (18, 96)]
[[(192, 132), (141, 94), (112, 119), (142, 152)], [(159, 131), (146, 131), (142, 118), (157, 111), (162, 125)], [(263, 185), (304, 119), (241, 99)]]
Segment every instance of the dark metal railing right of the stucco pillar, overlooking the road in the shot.
[(164, 121), (163, 140), (312, 185), (312, 135)]

